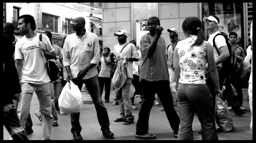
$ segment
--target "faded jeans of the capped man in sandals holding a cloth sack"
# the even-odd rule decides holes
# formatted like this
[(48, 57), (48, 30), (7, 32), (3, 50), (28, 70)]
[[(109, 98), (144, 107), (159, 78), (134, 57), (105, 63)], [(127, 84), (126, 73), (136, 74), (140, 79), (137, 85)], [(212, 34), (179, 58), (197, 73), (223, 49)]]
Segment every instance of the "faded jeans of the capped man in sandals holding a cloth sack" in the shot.
[(120, 118), (134, 121), (134, 116), (132, 115), (132, 100), (130, 96), (131, 83), (132, 78), (127, 78), (123, 87), (121, 87), (119, 90), (115, 90), (115, 94), (116, 100), (121, 103)]

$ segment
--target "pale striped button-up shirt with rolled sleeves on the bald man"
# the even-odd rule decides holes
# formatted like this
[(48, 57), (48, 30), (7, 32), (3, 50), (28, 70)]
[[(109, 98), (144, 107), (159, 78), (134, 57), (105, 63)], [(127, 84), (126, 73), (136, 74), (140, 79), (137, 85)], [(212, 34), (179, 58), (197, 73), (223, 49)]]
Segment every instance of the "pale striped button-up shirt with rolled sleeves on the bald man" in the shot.
[[(80, 70), (89, 64), (98, 64), (100, 61), (99, 38), (96, 34), (85, 32), (82, 39), (76, 33), (66, 37), (63, 46), (63, 65), (70, 66), (71, 78), (77, 77)], [(86, 73), (83, 79), (98, 75), (96, 66)]]

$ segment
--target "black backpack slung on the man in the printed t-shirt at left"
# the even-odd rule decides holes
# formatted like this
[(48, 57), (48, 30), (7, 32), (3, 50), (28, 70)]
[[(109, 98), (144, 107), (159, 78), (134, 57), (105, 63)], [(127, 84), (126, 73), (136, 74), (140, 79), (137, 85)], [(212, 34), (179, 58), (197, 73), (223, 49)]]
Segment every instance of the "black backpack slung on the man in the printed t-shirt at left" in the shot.
[[(42, 34), (39, 35), (39, 41), (42, 42)], [(55, 59), (47, 59), (46, 67), (47, 67), (47, 73), (50, 78), (50, 82), (53, 82), (60, 78), (60, 69), (57, 66), (57, 61)]]

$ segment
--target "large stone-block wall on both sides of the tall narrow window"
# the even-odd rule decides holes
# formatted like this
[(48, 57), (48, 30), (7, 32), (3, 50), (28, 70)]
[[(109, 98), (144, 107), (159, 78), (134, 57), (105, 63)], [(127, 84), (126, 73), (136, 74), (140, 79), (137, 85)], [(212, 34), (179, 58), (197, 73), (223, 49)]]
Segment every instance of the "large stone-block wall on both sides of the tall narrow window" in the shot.
[[(131, 40), (131, 3), (102, 3), (103, 9), (103, 47), (113, 50), (118, 43), (114, 33), (120, 29), (128, 32), (127, 41)], [(199, 18), (198, 3), (158, 3), (160, 24), (164, 28), (166, 46), (170, 44), (168, 28), (176, 28), (179, 38), (185, 39), (182, 22), (191, 16)], [(135, 39), (135, 37), (133, 37)]]

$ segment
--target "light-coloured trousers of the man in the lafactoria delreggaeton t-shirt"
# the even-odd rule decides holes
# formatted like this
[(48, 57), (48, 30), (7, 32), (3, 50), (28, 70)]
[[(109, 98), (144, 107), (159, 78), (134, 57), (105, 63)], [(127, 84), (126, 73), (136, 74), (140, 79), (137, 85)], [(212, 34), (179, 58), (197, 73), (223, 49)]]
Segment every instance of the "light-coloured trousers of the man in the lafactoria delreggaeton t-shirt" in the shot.
[(17, 109), (20, 125), (25, 127), (34, 91), (39, 101), (39, 110), (42, 116), (43, 140), (48, 140), (51, 136), (53, 121), (50, 83), (42, 85), (21, 83), (20, 102)]

